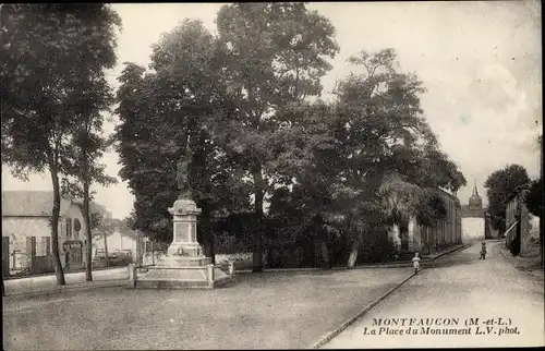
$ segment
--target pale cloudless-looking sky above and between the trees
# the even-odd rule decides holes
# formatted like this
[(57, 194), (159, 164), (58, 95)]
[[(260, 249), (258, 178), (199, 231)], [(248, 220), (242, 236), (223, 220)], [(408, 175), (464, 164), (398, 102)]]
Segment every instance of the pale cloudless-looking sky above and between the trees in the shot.
[[(112, 86), (123, 62), (147, 66), (150, 46), (184, 19), (198, 19), (213, 33), (220, 3), (119, 3), (118, 66), (108, 72)], [(413, 72), (426, 93), (422, 108), (441, 149), (460, 167), (468, 186), (458, 191), (468, 203), (473, 183), (486, 205), (483, 186), (495, 170), (510, 164), (540, 175), (542, 133), (541, 8), (537, 1), (483, 2), (320, 2), (308, 8), (337, 29), (340, 52), (323, 78), (324, 92), (353, 68), (347, 59), (361, 50), (393, 48), (401, 70)], [(108, 123), (113, 131), (117, 119)], [(104, 162), (118, 177), (118, 155)], [(116, 218), (129, 216), (134, 197), (125, 182), (95, 186), (96, 202)], [(24, 182), (2, 166), (3, 190), (51, 190), (49, 174)], [(171, 204), (167, 204), (171, 206)]]

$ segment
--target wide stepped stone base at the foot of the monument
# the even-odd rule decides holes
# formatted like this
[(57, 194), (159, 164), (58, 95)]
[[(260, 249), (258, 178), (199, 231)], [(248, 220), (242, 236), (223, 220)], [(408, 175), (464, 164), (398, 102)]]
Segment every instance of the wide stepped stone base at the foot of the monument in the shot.
[(232, 276), (214, 268), (214, 281), (208, 280), (207, 267), (156, 267), (136, 277), (136, 289), (214, 289), (234, 282)]

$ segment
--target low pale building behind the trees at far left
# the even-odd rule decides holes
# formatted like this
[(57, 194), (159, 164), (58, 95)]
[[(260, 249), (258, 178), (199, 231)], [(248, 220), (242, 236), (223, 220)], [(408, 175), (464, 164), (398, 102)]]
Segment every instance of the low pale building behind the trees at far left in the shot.
[[(52, 192), (2, 192), (2, 263), (5, 274), (53, 269), (49, 225), (52, 204)], [(85, 234), (82, 204), (61, 198), (59, 254), (63, 267), (83, 265)]]

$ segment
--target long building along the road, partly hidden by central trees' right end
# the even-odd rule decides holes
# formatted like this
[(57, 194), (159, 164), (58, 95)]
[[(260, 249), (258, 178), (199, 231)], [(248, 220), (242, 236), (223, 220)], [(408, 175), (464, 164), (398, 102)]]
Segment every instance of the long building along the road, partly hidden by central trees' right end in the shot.
[(446, 190), (437, 189), (437, 192), (446, 205), (447, 217), (433, 227), (419, 223), (416, 218), (411, 218), (408, 230), (401, 233), (399, 227), (393, 226), (390, 242), (396, 251), (417, 251), (422, 255), (429, 255), (443, 247), (462, 243), (460, 201)]

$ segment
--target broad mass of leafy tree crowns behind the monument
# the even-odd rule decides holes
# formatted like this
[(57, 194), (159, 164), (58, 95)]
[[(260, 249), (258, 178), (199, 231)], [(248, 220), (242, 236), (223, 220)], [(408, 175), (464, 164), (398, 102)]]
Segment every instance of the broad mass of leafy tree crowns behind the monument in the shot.
[(384, 223), (445, 216), (434, 189), (457, 191), (465, 179), (440, 150), (420, 104), (425, 89), (395, 50), (350, 58), (363, 73), (322, 100), (339, 50), (326, 17), (303, 3), (235, 3), (216, 23), (213, 35), (184, 21), (153, 46), (149, 69), (125, 63), (119, 78), (117, 149), (135, 228), (171, 238), (167, 208), (182, 157), (205, 251), (211, 231), (229, 227), (254, 252), (254, 271), (280, 242), (358, 243)]

